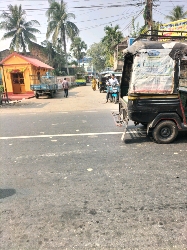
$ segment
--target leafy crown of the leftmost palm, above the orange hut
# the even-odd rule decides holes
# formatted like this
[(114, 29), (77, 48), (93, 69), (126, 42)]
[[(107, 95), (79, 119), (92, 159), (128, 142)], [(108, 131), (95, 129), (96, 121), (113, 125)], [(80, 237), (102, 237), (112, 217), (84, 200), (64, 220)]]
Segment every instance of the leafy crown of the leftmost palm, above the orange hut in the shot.
[(36, 41), (34, 33), (40, 33), (38, 29), (33, 28), (35, 24), (39, 25), (36, 20), (31, 20), (26, 22), (25, 14), (26, 12), (22, 9), (21, 4), (18, 5), (8, 5), (8, 10), (10, 13), (3, 12), (0, 18), (4, 21), (0, 22), (0, 29), (7, 31), (2, 39), (12, 38), (10, 43), (10, 49), (19, 52), (23, 49), (26, 52), (27, 46), (31, 41)]

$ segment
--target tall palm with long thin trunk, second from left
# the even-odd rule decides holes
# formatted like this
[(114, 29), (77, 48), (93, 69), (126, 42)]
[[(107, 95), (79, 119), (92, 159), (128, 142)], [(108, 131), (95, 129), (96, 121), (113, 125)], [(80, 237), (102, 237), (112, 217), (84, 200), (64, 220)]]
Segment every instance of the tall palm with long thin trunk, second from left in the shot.
[(52, 35), (53, 44), (56, 44), (57, 39), (60, 37), (61, 42), (64, 46), (64, 53), (66, 55), (66, 67), (68, 71), (66, 39), (70, 38), (71, 40), (73, 40), (73, 38), (79, 34), (79, 29), (73, 22), (69, 21), (71, 18), (75, 18), (75, 15), (72, 13), (67, 13), (66, 4), (63, 3), (63, 0), (61, 0), (60, 3), (56, 2), (55, 0), (48, 1), (50, 4), (50, 8), (46, 12), (49, 22), (46, 38), (48, 39)]

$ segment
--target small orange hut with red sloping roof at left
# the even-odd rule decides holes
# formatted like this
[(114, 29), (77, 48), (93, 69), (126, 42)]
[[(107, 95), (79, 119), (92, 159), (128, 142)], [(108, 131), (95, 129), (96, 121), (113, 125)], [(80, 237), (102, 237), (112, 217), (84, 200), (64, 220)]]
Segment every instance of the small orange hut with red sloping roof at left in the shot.
[(9, 95), (30, 94), (31, 76), (43, 76), (53, 68), (38, 59), (21, 55), (17, 52), (4, 58), (2, 65), (3, 86)]

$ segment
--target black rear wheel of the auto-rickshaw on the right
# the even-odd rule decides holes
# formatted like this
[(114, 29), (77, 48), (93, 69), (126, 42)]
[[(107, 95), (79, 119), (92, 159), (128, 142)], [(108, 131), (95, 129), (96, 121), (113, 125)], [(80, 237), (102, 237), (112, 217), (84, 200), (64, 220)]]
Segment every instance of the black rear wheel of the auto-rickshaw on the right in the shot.
[(153, 129), (153, 138), (157, 143), (164, 144), (174, 141), (177, 137), (178, 128), (173, 121), (165, 120), (160, 122)]

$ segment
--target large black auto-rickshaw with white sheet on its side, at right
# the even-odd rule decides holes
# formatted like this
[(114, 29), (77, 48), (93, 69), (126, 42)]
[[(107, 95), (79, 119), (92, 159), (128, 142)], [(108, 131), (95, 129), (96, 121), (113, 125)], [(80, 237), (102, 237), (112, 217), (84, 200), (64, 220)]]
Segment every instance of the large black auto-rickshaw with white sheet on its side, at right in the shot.
[[(184, 38), (186, 39), (186, 38)], [(187, 131), (187, 41), (137, 40), (124, 50), (119, 119), (143, 124), (157, 143)]]

